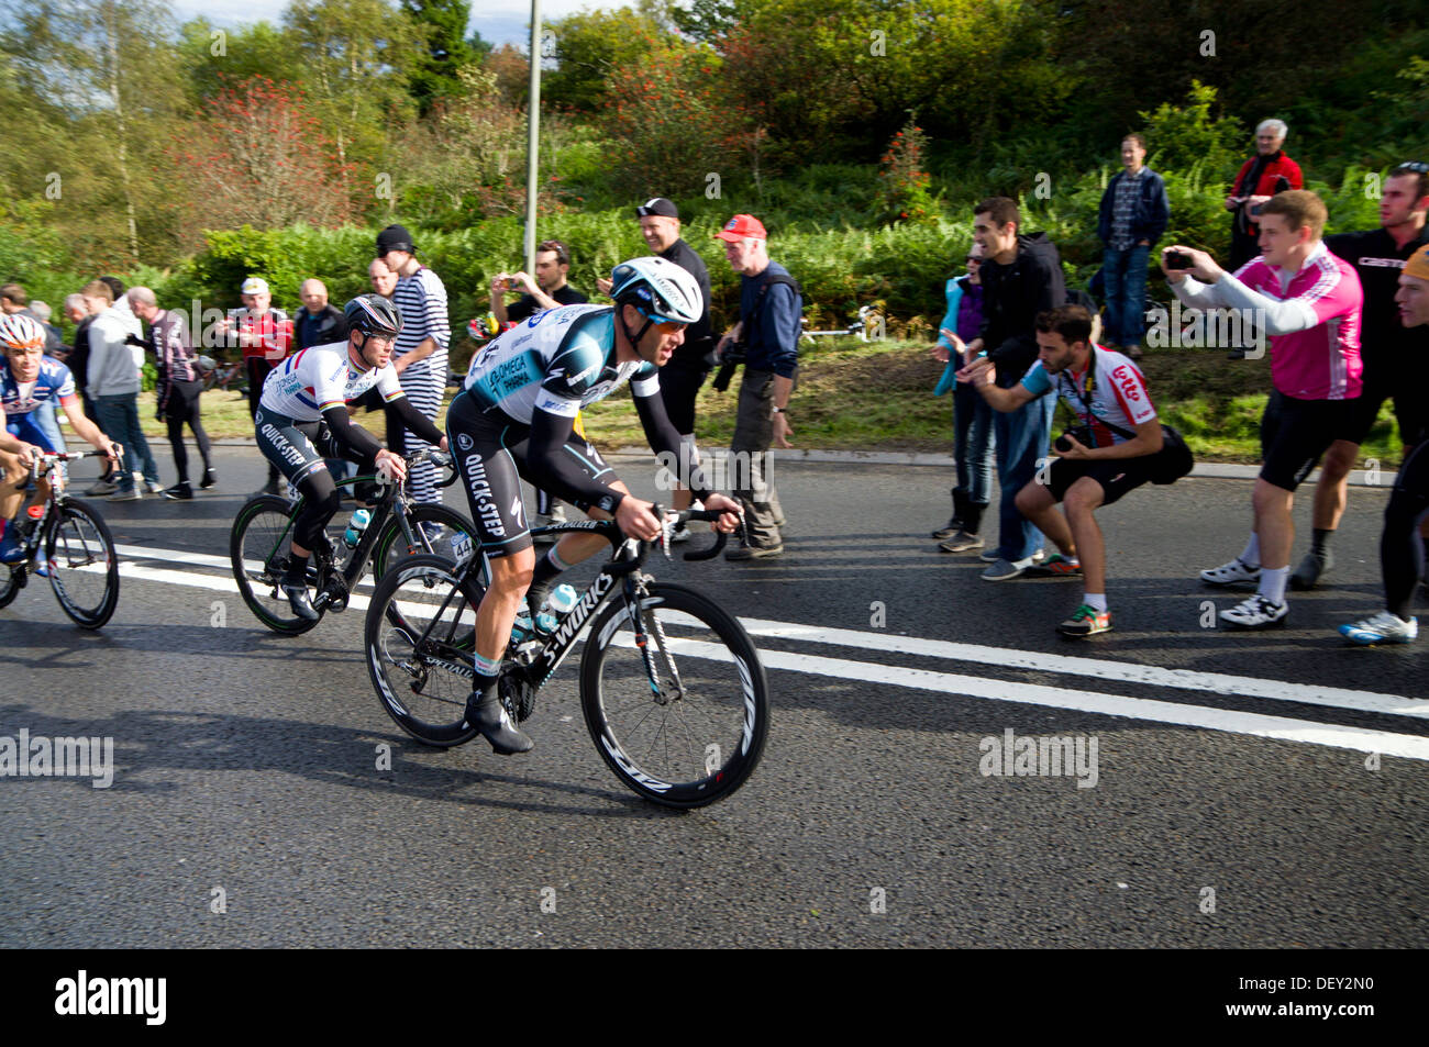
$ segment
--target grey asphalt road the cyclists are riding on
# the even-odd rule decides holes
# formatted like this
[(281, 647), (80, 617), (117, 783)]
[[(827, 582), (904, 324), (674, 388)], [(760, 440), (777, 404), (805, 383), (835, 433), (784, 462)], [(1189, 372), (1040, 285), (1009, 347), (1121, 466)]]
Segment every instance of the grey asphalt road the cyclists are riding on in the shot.
[[(3, 946), (1429, 944), (1429, 641), (1333, 634), (1379, 606), (1383, 490), (1352, 493), (1333, 586), (1258, 634), (1203, 627), (1230, 597), (1195, 580), (1242, 547), (1249, 483), (1136, 491), (1103, 514), (1116, 630), (1067, 641), (1079, 583), (935, 551), (945, 470), (780, 463), (783, 557), (653, 566), (746, 620), (775, 701), (745, 788), (679, 814), (600, 761), (573, 663), (533, 753), (437, 751), (377, 704), (362, 611), (259, 626), (176, 558), (226, 557), (262, 480), (217, 456), (191, 503), (101, 503), (103, 631), (43, 583), (0, 611), (0, 737), (111, 737), (116, 764), (0, 778)], [(983, 774), (1009, 730), (1095, 741), (1095, 777)]]

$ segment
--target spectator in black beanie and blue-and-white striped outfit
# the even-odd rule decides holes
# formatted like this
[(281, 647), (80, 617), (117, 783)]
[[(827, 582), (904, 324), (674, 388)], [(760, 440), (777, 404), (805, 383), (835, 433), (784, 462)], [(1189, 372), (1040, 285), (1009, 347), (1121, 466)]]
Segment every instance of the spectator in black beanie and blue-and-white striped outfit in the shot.
[[(387, 226), (377, 234), (377, 257), (397, 274), (392, 301), (402, 313), (402, 333), (393, 350), (393, 366), (412, 406), (436, 421), (446, 391), (452, 324), (446, 313), (446, 287), (436, 273), (417, 261), (416, 250), (412, 233), (402, 226)], [(387, 447), (394, 454), (406, 456), (426, 446), (387, 411)], [(436, 466), (413, 467), (410, 489), (419, 503), (440, 501)]]

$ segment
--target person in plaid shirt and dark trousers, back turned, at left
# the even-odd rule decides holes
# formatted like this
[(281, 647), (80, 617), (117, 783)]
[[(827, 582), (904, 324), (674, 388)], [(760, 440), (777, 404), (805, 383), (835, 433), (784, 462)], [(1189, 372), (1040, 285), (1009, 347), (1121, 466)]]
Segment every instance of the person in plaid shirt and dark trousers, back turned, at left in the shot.
[(154, 384), (156, 410), (160, 421), (169, 423), (169, 446), (179, 469), (179, 483), (163, 491), (166, 499), (187, 501), (193, 497), (189, 483), (189, 450), (183, 444), (183, 427), (189, 426), (199, 443), (203, 457), (203, 479), (200, 487), (213, 487), (213, 460), (209, 434), (203, 431), (199, 417), (199, 394), (203, 380), (199, 377), (199, 354), (193, 351), (189, 336), (189, 320), (177, 309), (159, 309), (159, 300), (149, 287), (129, 289), (129, 307), (134, 316), (149, 324), (150, 347), (154, 350), (154, 366), (159, 381)]

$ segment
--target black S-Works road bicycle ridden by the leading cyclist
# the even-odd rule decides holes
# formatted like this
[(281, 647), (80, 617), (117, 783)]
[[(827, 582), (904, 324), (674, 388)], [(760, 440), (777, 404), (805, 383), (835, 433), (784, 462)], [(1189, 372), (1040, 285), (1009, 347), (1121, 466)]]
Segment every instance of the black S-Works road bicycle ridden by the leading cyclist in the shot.
[[(719, 516), (663, 517), (664, 554), (672, 526)], [(507, 647), (497, 680), (507, 713), (517, 721), (532, 714), (536, 691), (584, 634), (580, 706), (614, 776), (667, 807), (727, 797), (755, 770), (769, 733), (769, 684), (749, 633), (709, 597), (644, 574), (650, 543), (626, 538), (612, 520), (537, 531), (594, 531), (614, 554), (549, 636)], [(725, 538), (684, 558), (710, 558)], [(379, 583), (367, 607), (367, 668), (377, 697), (427, 746), (460, 746), (477, 734), (464, 717), (476, 608), (486, 593), (480, 563), (473, 554), (456, 563), (414, 556)]]

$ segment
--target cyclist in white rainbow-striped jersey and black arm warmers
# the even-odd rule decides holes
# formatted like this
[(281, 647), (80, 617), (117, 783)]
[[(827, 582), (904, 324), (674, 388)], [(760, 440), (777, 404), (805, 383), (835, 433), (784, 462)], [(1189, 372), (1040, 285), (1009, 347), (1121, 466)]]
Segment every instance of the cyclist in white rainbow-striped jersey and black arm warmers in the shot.
[(259, 450), (303, 496), (283, 591), (293, 613), (309, 621), (317, 620), (317, 611), (307, 598), (307, 558), (324, 541), (323, 528), (342, 504), (323, 459), (350, 459), (363, 471), (380, 469), (399, 480), (407, 473), (399, 454), (353, 424), (347, 401), (376, 389), (412, 431), (442, 450), (447, 447), (442, 431), (407, 403), (397, 383), (392, 347), (402, 330), (402, 314), (396, 306), (377, 294), (363, 294), (349, 301), (343, 314), (347, 341), (310, 346), (273, 369), (253, 416)]

